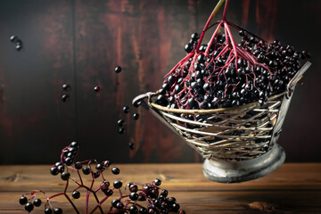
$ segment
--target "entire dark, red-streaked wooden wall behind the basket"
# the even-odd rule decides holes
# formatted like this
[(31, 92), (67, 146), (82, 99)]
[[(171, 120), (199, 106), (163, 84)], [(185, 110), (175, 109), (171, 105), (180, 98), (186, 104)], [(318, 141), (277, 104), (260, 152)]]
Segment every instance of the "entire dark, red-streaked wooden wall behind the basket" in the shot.
[[(200, 32), (216, 0), (5, 0), (0, 3), (0, 164), (53, 163), (71, 141), (79, 159), (202, 161), (136, 96), (155, 91)], [(309, 50), (279, 144), (286, 161), (321, 161), (321, 15), (318, 0), (230, 0), (228, 19), (273, 41)], [(218, 17), (221, 13), (218, 14)], [(17, 52), (9, 38), (24, 47)], [(123, 71), (116, 75), (114, 68)], [(71, 86), (70, 92), (62, 84)], [(101, 86), (95, 93), (94, 87)], [(63, 103), (66, 93), (70, 100)], [(139, 112), (138, 121), (131, 114)], [(125, 135), (117, 120), (127, 120)], [(130, 151), (128, 142), (136, 144)]]

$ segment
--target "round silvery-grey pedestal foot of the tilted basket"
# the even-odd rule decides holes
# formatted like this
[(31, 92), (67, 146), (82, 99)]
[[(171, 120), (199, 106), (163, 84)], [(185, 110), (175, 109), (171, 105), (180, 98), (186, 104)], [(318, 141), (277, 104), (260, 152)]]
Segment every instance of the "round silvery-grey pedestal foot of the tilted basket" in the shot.
[(284, 149), (279, 144), (274, 144), (269, 152), (247, 161), (206, 159), (202, 170), (204, 176), (212, 181), (236, 183), (264, 177), (278, 169), (284, 160)]

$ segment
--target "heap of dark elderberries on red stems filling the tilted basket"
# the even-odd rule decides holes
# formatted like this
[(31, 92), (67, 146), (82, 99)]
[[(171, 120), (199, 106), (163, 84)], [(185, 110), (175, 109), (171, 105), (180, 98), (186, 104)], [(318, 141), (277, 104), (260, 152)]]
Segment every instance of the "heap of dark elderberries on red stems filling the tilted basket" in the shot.
[[(277, 40), (268, 44), (229, 21), (217, 24), (208, 44), (202, 44), (203, 35), (192, 34), (185, 45), (187, 55), (165, 76), (153, 102), (186, 110), (263, 105), (268, 97), (284, 93), (309, 60), (306, 51)], [(239, 30), (240, 44), (235, 44), (230, 27)]]

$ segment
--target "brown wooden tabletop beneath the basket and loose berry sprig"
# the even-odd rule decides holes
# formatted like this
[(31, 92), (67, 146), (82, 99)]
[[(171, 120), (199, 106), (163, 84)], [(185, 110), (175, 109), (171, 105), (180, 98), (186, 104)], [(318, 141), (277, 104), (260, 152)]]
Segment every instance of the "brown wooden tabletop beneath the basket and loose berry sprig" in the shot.
[[(202, 175), (202, 164), (115, 166), (120, 169), (119, 175), (104, 173), (110, 181), (146, 183), (161, 178), (161, 187), (177, 198), (186, 213), (321, 213), (321, 163), (287, 163), (267, 177), (241, 184), (207, 180)], [(27, 213), (18, 203), (22, 193), (37, 188), (49, 195), (62, 192), (65, 182), (50, 175), (49, 168), (0, 166), (0, 213)], [(85, 213), (84, 202), (81, 197), (78, 200), (81, 213)], [(74, 213), (64, 197), (53, 203), (62, 207), (63, 213)], [(32, 213), (44, 213), (43, 205)]]

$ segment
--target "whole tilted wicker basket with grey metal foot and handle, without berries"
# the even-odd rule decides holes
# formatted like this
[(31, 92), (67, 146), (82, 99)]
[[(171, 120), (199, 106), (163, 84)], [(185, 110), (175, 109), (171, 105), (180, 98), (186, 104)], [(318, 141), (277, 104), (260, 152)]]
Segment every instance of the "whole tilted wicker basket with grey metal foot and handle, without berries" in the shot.
[[(144, 106), (165, 122), (205, 159), (203, 172), (210, 180), (231, 183), (263, 177), (285, 159), (283, 148), (276, 144), (282, 130), (292, 92), (306, 62), (287, 86), (287, 91), (259, 103), (213, 110), (170, 109), (154, 103), (157, 93), (137, 96), (133, 103)], [(181, 115), (190, 116), (181, 117)]]

